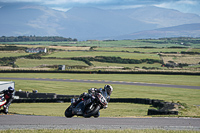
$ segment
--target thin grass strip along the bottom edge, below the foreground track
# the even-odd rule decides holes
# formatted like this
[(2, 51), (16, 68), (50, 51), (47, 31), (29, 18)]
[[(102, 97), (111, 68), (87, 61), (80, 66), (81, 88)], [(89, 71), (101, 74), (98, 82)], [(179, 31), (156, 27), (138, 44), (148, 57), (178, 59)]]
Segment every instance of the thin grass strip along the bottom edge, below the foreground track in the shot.
[(162, 129), (140, 129), (140, 130), (38, 129), (38, 130), (0, 130), (0, 133), (199, 133), (199, 131), (162, 130)]

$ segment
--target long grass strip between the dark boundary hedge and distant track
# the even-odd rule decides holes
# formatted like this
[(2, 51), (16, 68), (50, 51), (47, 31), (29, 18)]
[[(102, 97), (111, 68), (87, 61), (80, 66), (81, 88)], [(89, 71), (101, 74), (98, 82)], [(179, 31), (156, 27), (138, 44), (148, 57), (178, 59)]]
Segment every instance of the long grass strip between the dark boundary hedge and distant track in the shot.
[(2, 73), (0, 77), (56, 78), (144, 82), (172, 85), (200, 86), (200, 76), (163, 74), (68, 74), (68, 73)]

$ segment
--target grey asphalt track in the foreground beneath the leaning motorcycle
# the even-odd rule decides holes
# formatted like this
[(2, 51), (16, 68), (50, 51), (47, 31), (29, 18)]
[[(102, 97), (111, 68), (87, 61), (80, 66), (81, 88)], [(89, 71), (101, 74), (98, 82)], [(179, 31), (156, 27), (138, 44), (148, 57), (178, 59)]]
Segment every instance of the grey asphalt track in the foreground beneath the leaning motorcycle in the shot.
[(200, 130), (200, 118), (82, 118), (0, 115), (5, 129), (164, 129)]

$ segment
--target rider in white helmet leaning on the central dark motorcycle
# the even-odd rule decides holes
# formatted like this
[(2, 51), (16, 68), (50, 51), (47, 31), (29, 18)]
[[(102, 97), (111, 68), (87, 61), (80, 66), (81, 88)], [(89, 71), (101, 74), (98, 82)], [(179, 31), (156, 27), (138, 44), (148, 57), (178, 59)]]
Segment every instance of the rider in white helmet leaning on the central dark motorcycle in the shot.
[[(102, 88), (99, 88), (99, 89), (91, 88), (88, 90), (88, 93), (84, 92), (83, 94), (81, 94), (79, 96), (79, 98), (77, 99), (77, 101), (73, 101), (72, 105), (75, 107), (80, 101), (82, 101), (82, 98), (92, 97), (92, 96), (95, 96), (97, 93), (101, 93), (105, 97), (107, 102), (109, 102), (112, 91), (113, 91), (113, 87), (111, 85), (105, 85), (103, 89)], [(108, 105), (104, 106), (103, 108), (105, 109), (107, 107), (108, 107)]]

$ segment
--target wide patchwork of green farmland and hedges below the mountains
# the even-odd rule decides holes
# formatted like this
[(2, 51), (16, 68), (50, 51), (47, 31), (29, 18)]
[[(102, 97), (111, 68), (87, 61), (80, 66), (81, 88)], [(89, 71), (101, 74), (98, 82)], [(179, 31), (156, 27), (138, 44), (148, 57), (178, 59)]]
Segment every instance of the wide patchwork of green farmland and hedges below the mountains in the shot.
[[(198, 42), (198, 38), (1, 42), (1, 49), (8, 49), (8, 46), (16, 49), (17, 47), (19, 49), (45, 47), (48, 52), (46, 54), (33, 54), (19, 50), (0, 51), (0, 58), (2, 58), (0, 69), (57, 71), (59, 65), (66, 65), (65, 70), (70, 71), (176, 71), (195, 73), (200, 72), (200, 44)], [(98, 56), (105, 59), (100, 61)], [(108, 57), (113, 59), (108, 60)], [(65, 58), (65, 60), (61, 58)]]

